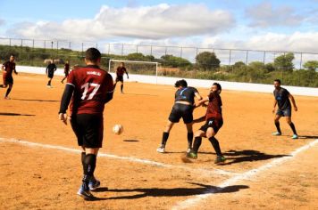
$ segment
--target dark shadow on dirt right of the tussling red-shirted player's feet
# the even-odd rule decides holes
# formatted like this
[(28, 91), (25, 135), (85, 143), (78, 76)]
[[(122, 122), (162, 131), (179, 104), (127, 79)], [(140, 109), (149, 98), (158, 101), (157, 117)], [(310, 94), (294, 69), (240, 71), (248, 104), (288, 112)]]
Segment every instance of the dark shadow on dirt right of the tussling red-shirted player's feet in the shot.
[(252, 162), (252, 161), (260, 161), (260, 160), (267, 160), (272, 158), (283, 158), (288, 157), (289, 155), (270, 155), (264, 152), (260, 152), (257, 150), (229, 150), (223, 155), (226, 157), (227, 161), (222, 165), (231, 165), (231, 164), (238, 164), (241, 162)]

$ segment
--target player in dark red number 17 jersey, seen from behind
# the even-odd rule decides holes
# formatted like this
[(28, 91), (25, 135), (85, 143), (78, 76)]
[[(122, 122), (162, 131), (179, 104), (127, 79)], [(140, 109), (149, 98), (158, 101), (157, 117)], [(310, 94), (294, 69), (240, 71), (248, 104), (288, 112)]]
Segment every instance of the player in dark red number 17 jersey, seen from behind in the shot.
[(94, 198), (90, 190), (96, 190), (100, 182), (94, 171), (98, 149), (102, 147), (105, 103), (113, 99), (113, 77), (100, 69), (101, 53), (96, 48), (86, 51), (85, 67), (71, 71), (63, 93), (59, 118), (67, 124), (66, 110), (70, 104), (71, 127), (82, 149), (82, 185), (78, 195)]

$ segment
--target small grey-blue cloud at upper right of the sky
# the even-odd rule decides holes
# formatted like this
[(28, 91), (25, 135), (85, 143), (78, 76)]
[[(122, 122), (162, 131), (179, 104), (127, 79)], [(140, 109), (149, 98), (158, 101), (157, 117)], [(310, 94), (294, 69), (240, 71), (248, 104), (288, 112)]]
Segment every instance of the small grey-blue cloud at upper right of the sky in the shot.
[(247, 18), (251, 19), (251, 27), (289, 27), (297, 26), (305, 19), (289, 6), (273, 8), (270, 2), (263, 2), (247, 8)]

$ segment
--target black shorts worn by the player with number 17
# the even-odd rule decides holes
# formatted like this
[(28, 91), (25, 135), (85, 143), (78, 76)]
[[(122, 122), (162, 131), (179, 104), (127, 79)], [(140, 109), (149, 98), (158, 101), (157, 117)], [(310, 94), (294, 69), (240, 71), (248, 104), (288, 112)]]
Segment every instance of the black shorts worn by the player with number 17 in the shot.
[(79, 114), (71, 116), (71, 128), (79, 146), (101, 148), (103, 145), (104, 120), (102, 115)]

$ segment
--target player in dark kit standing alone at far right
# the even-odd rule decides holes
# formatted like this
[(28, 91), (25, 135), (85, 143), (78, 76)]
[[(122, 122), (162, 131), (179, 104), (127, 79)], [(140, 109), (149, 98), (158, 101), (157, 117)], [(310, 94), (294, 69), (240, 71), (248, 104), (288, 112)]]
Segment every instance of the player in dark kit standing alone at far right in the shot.
[[(291, 103), (293, 104), (294, 110), (297, 111), (297, 106), (296, 106), (296, 102), (294, 97), (289, 93), (288, 90), (286, 90), (285, 88), (282, 88), (280, 86), (280, 79), (275, 79), (274, 80), (274, 105), (273, 105), (273, 109), (272, 109), (272, 113), (275, 113), (275, 108), (276, 105), (278, 104), (278, 109), (276, 111), (276, 115), (275, 115), (275, 119), (274, 119), (274, 123), (276, 125), (277, 128), (277, 132), (272, 133), (273, 135), (281, 135), (281, 131), (280, 131), (280, 117), (286, 117), (286, 121), (289, 124), (291, 130), (293, 131), (293, 136), (291, 137), (292, 139), (297, 139), (298, 135), (296, 132), (296, 128), (295, 125), (293, 124), (293, 122), (291, 122)], [(289, 101), (290, 99), (290, 101)]]

